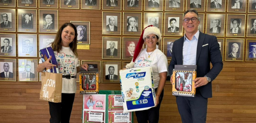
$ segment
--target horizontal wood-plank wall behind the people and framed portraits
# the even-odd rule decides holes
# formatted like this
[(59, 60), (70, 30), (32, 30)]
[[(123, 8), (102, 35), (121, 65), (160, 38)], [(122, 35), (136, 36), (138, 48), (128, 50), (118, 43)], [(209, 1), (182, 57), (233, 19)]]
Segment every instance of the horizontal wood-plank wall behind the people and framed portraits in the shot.
[[(17, 9), (22, 8), (16, 8), (16, 10)], [(79, 10), (58, 10), (59, 27), (70, 20), (91, 22), (90, 50), (78, 50), (79, 59), (102, 60), (102, 10), (85, 10), (81, 8)], [(206, 22), (206, 12), (200, 13), (205, 14)], [(18, 32), (16, 32), (16, 34), (18, 34)], [(163, 38), (166, 37), (168, 36), (163, 36)], [(207, 123), (255, 123), (256, 63), (226, 61), (223, 61), (223, 63), (222, 72), (212, 82), (213, 97), (208, 99)], [(166, 83), (169, 82), (167, 81)], [(39, 100), (40, 88), (41, 82), (0, 81), (0, 123), (49, 122), (50, 114), (48, 102)], [(99, 88), (100, 90), (120, 90), (120, 84), (100, 83)], [(77, 89), (79, 89), (79, 86), (77, 86)], [(171, 91), (171, 85), (166, 84), (164, 88), (164, 98), (160, 108), (159, 123), (181, 123), (176, 100), (175, 97), (172, 96)], [(80, 95), (77, 90), (70, 122), (82, 123), (81, 116), (82, 95)], [(135, 123), (137, 123), (136, 117), (134, 117), (134, 120)]]

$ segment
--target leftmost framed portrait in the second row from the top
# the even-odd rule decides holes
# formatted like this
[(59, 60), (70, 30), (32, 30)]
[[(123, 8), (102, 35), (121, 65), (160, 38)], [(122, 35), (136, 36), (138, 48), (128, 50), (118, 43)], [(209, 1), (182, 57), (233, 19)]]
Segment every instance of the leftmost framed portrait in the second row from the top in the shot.
[(15, 9), (0, 9), (0, 31), (15, 32)]

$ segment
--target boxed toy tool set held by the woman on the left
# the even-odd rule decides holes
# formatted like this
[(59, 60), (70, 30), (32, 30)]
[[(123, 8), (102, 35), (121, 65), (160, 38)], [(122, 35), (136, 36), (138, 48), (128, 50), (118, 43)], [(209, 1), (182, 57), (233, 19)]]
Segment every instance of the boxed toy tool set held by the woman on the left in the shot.
[(88, 68), (88, 71), (79, 72), (80, 94), (99, 93), (99, 70), (98, 68)]

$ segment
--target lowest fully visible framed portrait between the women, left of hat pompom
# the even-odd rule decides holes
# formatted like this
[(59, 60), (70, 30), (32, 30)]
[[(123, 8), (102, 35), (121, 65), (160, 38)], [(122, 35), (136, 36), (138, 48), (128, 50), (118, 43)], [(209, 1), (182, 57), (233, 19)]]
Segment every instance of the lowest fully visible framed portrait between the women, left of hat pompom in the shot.
[(120, 82), (121, 61), (102, 61), (102, 82)]

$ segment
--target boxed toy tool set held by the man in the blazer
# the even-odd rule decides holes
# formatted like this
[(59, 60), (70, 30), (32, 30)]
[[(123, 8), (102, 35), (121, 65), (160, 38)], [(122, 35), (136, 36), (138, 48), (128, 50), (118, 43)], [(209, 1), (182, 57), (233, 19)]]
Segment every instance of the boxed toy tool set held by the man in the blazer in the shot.
[(195, 97), (194, 87), (197, 72), (196, 65), (175, 65), (173, 69), (173, 95)]

